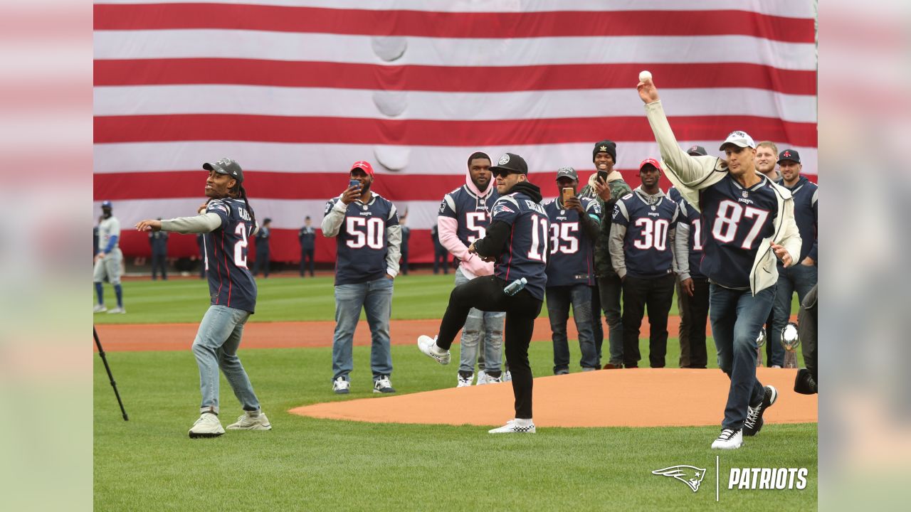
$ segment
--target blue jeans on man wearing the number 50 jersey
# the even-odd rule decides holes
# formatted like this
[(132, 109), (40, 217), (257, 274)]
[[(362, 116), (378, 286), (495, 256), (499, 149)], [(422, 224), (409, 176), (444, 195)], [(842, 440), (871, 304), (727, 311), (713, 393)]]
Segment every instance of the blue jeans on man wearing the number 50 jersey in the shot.
[(370, 282), (339, 284), (335, 287), (335, 333), (333, 334), (333, 381), (351, 380), (354, 368), (352, 346), (354, 329), (361, 308), (370, 326), (370, 367), (374, 381), (393, 373), (393, 353), (389, 347), (389, 317), (393, 312), (393, 280), (387, 277)]

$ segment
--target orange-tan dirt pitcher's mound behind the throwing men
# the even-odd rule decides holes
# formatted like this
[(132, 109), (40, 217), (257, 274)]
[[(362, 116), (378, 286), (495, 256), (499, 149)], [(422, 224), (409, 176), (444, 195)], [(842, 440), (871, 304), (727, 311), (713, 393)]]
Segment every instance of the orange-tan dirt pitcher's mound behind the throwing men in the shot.
[[(759, 368), (778, 389), (765, 423), (815, 423), (816, 396), (796, 394), (796, 370)], [(455, 368), (453, 369), (455, 381)], [(537, 426), (721, 425), (731, 382), (721, 370), (602, 370), (535, 379)], [(509, 383), (312, 404), (296, 415), (372, 423), (503, 425), (513, 417)]]

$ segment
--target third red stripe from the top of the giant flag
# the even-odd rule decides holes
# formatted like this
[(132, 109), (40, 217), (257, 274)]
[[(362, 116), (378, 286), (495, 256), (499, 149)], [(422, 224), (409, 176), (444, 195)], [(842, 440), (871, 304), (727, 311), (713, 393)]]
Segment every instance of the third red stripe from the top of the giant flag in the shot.
[[(670, 118), (681, 140), (722, 140), (732, 129), (754, 138), (816, 147), (816, 124), (755, 116)], [(297, 144), (510, 146), (590, 142), (611, 134), (619, 142), (654, 140), (643, 112), (636, 117), (509, 119), (494, 121), (310, 118), (235, 114), (101, 116), (95, 142), (246, 140)]]

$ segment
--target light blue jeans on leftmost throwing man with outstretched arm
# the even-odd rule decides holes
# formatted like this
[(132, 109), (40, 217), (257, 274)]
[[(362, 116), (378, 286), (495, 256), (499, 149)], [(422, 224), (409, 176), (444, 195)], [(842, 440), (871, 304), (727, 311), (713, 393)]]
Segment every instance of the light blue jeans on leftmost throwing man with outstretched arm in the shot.
[(260, 401), (237, 356), (243, 326), (249, 318), (250, 312), (228, 306), (209, 306), (209, 311), (202, 317), (200, 330), (193, 340), (193, 355), (200, 366), (200, 412), (219, 412), (219, 369), (228, 379), (243, 410), (260, 410)]

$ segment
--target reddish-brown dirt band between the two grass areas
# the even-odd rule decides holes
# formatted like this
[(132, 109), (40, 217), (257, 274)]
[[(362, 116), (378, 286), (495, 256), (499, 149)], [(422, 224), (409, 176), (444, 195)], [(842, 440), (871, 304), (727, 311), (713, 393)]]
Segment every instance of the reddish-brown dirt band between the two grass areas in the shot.
[[(421, 334), (434, 335), (439, 320), (393, 320), (389, 331), (392, 343), (416, 343)], [(98, 336), (107, 352), (147, 350), (189, 350), (199, 329), (199, 323), (130, 323), (96, 325)], [(668, 332), (677, 333), (680, 317), (668, 319)], [(334, 322), (261, 322), (248, 323), (243, 330), (241, 349), (328, 347), (333, 344)], [(570, 340), (578, 339), (576, 325), (567, 325)], [(607, 329), (605, 329), (607, 335)], [(649, 323), (642, 323), (641, 337), (649, 335)], [(550, 341), (550, 323), (546, 317), (535, 322), (532, 341)], [(370, 344), (370, 329), (365, 321), (357, 324), (355, 345)]]

